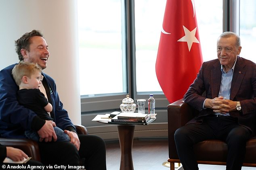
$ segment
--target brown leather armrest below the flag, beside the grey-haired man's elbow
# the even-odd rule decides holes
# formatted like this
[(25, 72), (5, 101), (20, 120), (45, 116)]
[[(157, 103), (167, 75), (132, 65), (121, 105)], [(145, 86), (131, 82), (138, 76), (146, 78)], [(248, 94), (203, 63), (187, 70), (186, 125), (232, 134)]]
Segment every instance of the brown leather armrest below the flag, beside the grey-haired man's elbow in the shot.
[(183, 99), (177, 100), (168, 105), (168, 141), (169, 141), (169, 158), (178, 159), (174, 133), (176, 129), (184, 126), (188, 121), (195, 117), (192, 109)]

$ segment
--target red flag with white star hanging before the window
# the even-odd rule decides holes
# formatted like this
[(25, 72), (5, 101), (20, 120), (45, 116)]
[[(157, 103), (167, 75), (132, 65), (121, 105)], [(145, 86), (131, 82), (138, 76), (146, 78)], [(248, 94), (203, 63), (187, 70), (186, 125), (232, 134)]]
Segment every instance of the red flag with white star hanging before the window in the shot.
[(170, 103), (183, 98), (203, 61), (193, 0), (167, 0), (155, 71)]

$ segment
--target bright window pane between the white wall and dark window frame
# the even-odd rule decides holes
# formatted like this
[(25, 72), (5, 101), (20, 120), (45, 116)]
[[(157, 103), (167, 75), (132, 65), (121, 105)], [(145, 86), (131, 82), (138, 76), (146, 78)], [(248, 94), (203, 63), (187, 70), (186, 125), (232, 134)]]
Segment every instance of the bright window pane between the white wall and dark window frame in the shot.
[(127, 92), (120, 0), (78, 0), (80, 94)]

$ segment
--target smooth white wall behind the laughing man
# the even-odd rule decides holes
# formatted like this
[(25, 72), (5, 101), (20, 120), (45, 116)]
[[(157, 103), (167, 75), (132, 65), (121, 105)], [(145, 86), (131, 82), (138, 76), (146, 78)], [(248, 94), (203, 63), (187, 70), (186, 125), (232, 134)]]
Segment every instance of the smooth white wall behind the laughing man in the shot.
[(0, 69), (18, 62), (14, 41), (33, 29), (49, 45), (46, 74), (52, 76), (64, 108), (81, 124), (77, 0), (0, 0)]

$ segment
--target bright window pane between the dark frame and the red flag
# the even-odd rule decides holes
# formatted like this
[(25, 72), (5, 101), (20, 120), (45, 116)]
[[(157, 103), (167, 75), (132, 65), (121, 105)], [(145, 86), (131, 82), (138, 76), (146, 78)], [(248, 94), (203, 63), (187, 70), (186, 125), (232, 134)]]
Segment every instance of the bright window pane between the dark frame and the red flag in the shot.
[(166, 0), (135, 0), (137, 92), (162, 91), (155, 74), (155, 61), (165, 6)]

